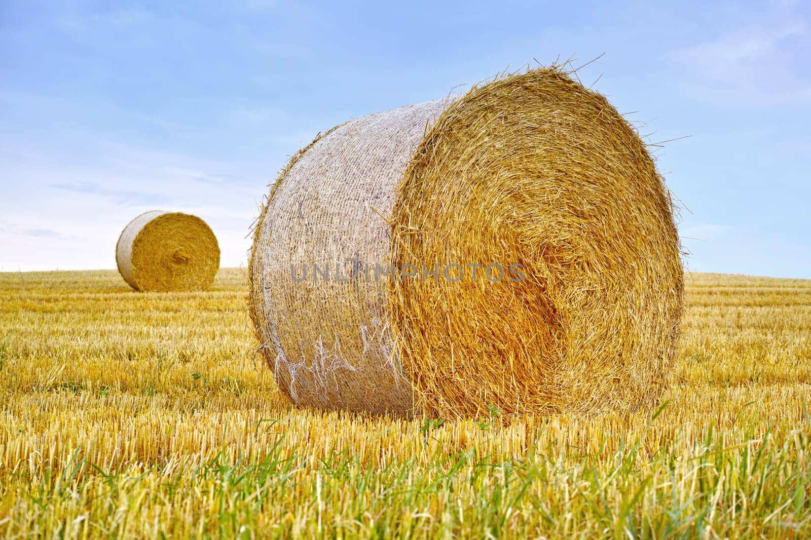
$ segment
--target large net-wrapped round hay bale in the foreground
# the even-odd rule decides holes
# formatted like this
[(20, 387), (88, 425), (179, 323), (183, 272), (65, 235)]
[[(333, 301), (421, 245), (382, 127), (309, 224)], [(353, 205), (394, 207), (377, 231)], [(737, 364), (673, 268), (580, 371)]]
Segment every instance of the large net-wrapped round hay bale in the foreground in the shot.
[(679, 250), (637, 131), (545, 68), (299, 151), (255, 226), (251, 317), (298, 405), (628, 411), (667, 381)]

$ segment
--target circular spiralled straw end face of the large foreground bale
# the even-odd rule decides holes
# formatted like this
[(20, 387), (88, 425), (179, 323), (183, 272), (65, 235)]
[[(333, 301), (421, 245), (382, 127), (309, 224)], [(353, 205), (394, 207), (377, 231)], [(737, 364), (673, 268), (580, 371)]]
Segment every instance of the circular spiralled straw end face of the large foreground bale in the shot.
[(464, 267), (457, 282), (389, 282), (420, 409), (577, 414), (659, 395), (679, 239), (645, 144), (603, 96), (548, 70), (474, 89), (431, 128), (396, 200), (397, 268)]

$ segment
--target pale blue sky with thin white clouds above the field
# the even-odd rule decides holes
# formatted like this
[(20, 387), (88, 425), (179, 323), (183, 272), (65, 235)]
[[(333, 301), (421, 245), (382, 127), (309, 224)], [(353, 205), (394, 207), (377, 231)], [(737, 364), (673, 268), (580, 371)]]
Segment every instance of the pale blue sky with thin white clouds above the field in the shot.
[[(811, 278), (804, 2), (0, 0), (0, 268), (115, 268), (192, 212), (245, 264), (299, 145), (350, 117), (575, 56), (650, 142), (698, 272)], [(602, 76), (601, 76), (602, 75)], [(634, 112), (637, 111), (637, 112)]]

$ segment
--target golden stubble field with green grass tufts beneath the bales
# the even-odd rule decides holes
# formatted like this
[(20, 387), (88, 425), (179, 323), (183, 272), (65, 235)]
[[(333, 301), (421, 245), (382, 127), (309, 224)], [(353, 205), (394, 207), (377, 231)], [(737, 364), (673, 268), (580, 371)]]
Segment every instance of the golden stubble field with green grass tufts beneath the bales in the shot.
[(0, 537), (811, 536), (811, 281), (688, 276), (661, 408), (505, 426), (292, 409), (245, 281), (0, 274)]

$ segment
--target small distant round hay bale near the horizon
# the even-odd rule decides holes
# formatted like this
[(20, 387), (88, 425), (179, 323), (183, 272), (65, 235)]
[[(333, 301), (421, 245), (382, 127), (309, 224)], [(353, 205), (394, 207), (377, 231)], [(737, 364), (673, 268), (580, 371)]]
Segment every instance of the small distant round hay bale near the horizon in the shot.
[(195, 291), (211, 287), (220, 247), (206, 222), (181, 212), (144, 212), (130, 221), (115, 248), (118, 272), (133, 289)]

